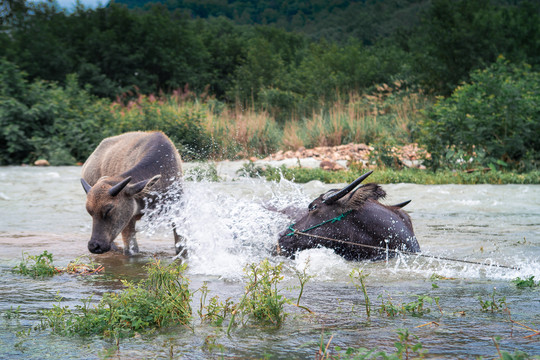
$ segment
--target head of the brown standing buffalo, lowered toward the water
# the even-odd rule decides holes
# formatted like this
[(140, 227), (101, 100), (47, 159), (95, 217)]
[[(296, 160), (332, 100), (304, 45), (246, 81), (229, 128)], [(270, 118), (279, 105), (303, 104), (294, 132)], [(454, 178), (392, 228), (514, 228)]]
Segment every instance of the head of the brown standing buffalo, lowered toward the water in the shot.
[(129, 236), (135, 234), (135, 221), (144, 207), (142, 194), (146, 193), (160, 178), (130, 184), (131, 176), (102, 177), (93, 186), (81, 179), (86, 192), (86, 210), (92, 216), (92, 236), (88, 250), (102, 254), (111, 249), (112, 242), (121, 232)]

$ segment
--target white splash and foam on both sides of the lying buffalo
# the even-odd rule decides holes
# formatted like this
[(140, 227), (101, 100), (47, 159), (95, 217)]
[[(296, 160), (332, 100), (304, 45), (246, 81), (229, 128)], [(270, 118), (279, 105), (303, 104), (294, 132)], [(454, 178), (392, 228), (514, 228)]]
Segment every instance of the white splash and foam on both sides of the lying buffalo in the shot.
[[(167, 195), (169, 200), (143, 218), (146, 219), (143, 228), (146, 234), (153, 235), (161, 230), (169, 232), (171, 223), (176, 224), (178, 233), (186, 239), (188, 271), (191, 274), (236, 280), (242, 278), (247, 264), (264, 258), (272, 262), (284, 261), (281, 257), (274, 257), (273, 251), (278, 234), (292, 221), (290, 209), (306, 209), (309, 202), (329, 186), (317, 181), (298, 185), (286, 180), (276, 183), (255, 179), (185, 182), (183, 189), (179, 185), (172, 188)], [(288, 210), (288, 216), (283, 213), (285, 210)], [(459, 279), (540, 278), (537, 257), (513, 253), (510, 259), (505, 256), (504, 247), (495, 247), (489, 254), (474, 254), (471, 243), (480, 243), (478, 235), (471, 238), (466, 232), (461, 234), (459, 229), (448, 227), (441, 229), (433, 238), (423, 237), (422, 233), (432, 231), (432, 225), (421, 221), (431, 222), (432, 219), (428, 213), (426, 218), (420, 219), (420, 224), (418, 221), (415, 223), (413, 212), (413, 223), (424, 253), (469, 259), (479, 264), (421, 256), (357, 263), (345, 261), (330, 249), (311, 249), (297, 254), (289, 266), (301, 271), (309, 259), (310, 266), (306, 272), (316, 281), (346, 279), (356, 267), (375, 269), (381, 279), (388, 276), (393, 279), (429, 278), (433, 274)], [(454, 239), (456, 235), (459, 240)], [(449, 236), (452, 241), (448, 241)], [(481, 244), (486, 249), (489, 246)], [(490, 265), (515, 266), (519, 270)]]

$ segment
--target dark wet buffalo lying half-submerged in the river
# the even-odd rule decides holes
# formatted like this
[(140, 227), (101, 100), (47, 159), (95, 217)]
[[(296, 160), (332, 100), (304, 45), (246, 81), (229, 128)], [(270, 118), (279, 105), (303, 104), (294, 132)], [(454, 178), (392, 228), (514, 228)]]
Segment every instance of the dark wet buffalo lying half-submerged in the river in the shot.
[[(330, 190), (309, 204), (308, 212), (280, 234), (277, 253), (294, 257), (297, 251), (322, 246), (334, 249), (347, 260), (362, 260), (385, 257), (386, 251), (380, 248), (420, 251), (411, 219), (401, 210), (409, 201), (395, 206), (379, 203), (377, 200), (386, 193), (377, 184), (355, 190), (370, 174), (341, 190)], [(389, 251), (388, 255), (395, 252)]]

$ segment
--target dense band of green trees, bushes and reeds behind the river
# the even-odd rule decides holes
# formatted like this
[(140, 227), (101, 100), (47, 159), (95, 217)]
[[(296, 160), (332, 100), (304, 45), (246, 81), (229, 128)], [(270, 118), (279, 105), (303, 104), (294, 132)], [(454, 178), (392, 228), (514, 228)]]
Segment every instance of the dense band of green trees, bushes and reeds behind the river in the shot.
[[(448, 154), (473, 146), (489, 159), (481, 165), (537, 166), (538, 144), (528, 135), (540, 121), (532, 105), (540, 66), (537, 2), (129, 4), (138, 8), (3, 5), (0, 164), (84, 161), (106, 136), (163, 130), (188, 158), (420, 140), (433, 151), (433, 166), (450, 166), (441, 159), (454, 161)], [(496, 63), (500, 56), (507, 62)], [(512, 89), (496, 89), (510, 75), (480, 81), (484, 69), (523, 76), (509, 80)], [(455, 90), (463, 83), (470, 85)], [(370, 100), (381, 88), (399, 91)], [(506, 105), (490, 100), (509, 91)], [(432, 95), (451, 94), (429, 109)], [(465, 128), (454, 133), (441, 125), (455, 122), (456, 113), (472, 115), (474, 106), (475, 118), (466, 121), (483, 122), (482, 142)], [(509, 112), (487, 109), (504, 106)], [(501, 137), (508, 114), (519, 126)]]

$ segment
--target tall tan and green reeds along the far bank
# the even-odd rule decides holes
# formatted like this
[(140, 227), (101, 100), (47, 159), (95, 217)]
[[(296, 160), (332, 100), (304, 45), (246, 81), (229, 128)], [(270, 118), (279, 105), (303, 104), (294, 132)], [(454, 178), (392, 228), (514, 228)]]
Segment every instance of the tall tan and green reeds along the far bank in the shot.
[[(398, 83), (396, 83), (398, 84)], [(413, 141), (422, 93), (381, 85), (372, 94), (350, 93), (304, 118), (278, 123), (265, 110), (229, 107), (189, 91), (138, 95), (111, 105), (115, 133), (162, 130), (189, 158), (245, 158), (277, 150), (347, 143), (404, 144)]]

